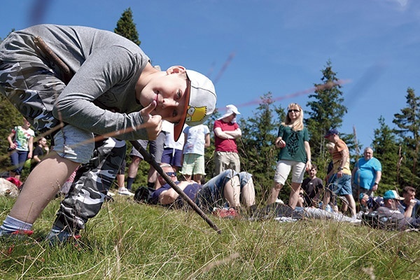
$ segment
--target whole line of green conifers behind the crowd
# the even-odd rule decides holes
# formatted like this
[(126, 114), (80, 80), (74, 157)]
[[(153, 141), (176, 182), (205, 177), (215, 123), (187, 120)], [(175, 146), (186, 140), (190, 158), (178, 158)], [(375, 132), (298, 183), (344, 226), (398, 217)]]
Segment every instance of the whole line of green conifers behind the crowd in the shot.
[[(13, 30), (12, 30), (13, 31)], [(137, 45), (141, 44), (137, 27), (132, 17), (132, 10), (127, 8), (117, 22), (114, 32), (129, 38)], [(0, 40), (1, 41), (1, 40)], [(330, 154), (325, 149), (325, 132), (330, 128), (339, 128), (347, 113), (344, 106), (342, 85), (339, 83), (337, 73), (332, 70), (332, 62), (328, 60), (321, 70), (321, 82), (314, 83), (314, 92), (309, 94), (309, 101), (306, 104), (307, 111), (304, 111), (304, 124), (309, 130), (312, 153), (312, 162), (318, 167), (318, 177), (324, 178)], [(416, 186), (420, 182), (419, 168), (419, 130), (420, 130), (420, 97), (417, 97), (414, 89), (407, 88), (406, 107), (394, 114), (392, 123), (395, 128), (389, 127), (384, 118), (378, 119), (378, 127), (374, 129), (372, 148), (374, 157), (382, 164), (382, 179), (379, 185), (379, 194), (388, 189), (401, 190), (404, 186)], [(220, 117), (217, 111), (207, 121), (210, 131), (213, 131), (214, 120)], [(260, 200), (265, 200), (266, 193), (272, 187), (276, 157), (278, 151), (274, 148), (274, 139), (280, 123), (286, 116), (286, 111), (281, 105), (276, 104), (271, 92), (260, 96), (253, 116), (241, 118), (242, 137), (238, 139), (239, 156), (241, 158), (241, 169), (253, 174), (255, 190)], [(8, 141), (12, 127), (21, 125), (20, 113), (0, 95), (0, 169), (5, 172), (10, 166), (7, 156)], [(356, 132), (353, 134), (340, 134), (351, 154), (351, 165), (363, 156), (363, 147), (357, 141)], [(211, 147), (207, 148), (206, 158), (206, 179), (214, 174), (214, 137), (211, 137)], [(127, 153), (131, 145), (127, 144)], [(130, 164), (130, 157), (127, 157), (127, 164)], [(139, 167), (137, 186), (146, 185), (148, 167), (144, 162)], [(288, 186), (281, 192), (281, 199), (287, 200)]]

